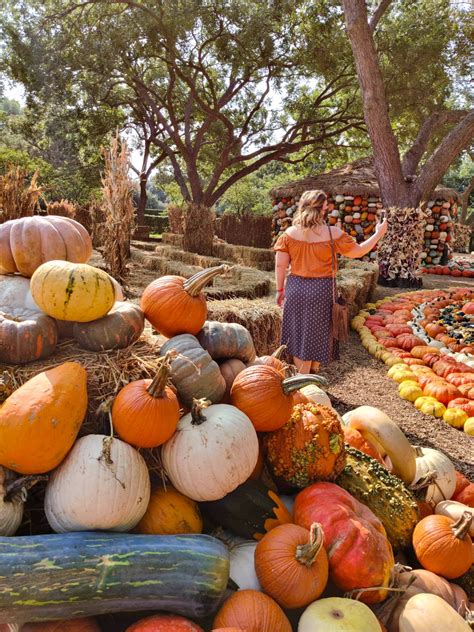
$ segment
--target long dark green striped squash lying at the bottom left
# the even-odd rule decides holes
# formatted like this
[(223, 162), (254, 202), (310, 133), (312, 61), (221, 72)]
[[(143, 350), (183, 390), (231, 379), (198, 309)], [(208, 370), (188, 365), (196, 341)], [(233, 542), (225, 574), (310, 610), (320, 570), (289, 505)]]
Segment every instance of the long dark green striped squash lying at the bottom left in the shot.
[(0, 623), (138, 610), (204, 617), (228, 577), (227, 547), (207, 535), (0, 538)]

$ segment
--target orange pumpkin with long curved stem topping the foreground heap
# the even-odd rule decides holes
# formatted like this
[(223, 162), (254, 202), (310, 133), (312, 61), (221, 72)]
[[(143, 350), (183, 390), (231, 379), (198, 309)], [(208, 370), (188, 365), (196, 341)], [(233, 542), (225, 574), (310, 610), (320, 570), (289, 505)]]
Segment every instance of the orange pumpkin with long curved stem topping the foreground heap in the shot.
[(152, 281), (145, 288), (140, 302), (146, 319), (167, 338), (197, 334), (207, 316), (206, 297), (202, 290), (211, 279), (228, 269), (228, 266), (221, 265), (201, 270), (189, 279), (168, 275)]

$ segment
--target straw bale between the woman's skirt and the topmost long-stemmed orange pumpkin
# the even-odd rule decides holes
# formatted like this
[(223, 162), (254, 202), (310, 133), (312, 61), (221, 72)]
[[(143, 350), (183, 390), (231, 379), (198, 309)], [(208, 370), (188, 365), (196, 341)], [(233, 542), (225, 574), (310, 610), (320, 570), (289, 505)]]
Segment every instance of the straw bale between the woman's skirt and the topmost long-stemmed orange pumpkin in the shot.
[(280, 345), (281, 309), (269, 301), (229, 299), (208, 301), (207, 319), (239, 323), (252, 336), (258, 355), (273, 353)]

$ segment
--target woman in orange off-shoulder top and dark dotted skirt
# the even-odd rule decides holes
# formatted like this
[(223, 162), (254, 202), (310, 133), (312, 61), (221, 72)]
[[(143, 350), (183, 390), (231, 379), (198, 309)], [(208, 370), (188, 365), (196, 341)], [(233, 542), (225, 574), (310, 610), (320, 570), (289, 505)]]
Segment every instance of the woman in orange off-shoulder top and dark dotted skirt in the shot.
[[(299, 373), (316, 372), (321, 363), (338, 357), (331, 333), (335, 254), (358, 259), (370, 252), (387, 232), (387, 221), (375, 234), (358, 244), (340, 228), (326, 222), (327, 198), (323, 191), (305, 191), (293, 225), (281, 235), (274, 249), (277, 304), (283, 306), (281, 342), (293, 356)], [(285, 277), (288, 268), (290, 273)]]

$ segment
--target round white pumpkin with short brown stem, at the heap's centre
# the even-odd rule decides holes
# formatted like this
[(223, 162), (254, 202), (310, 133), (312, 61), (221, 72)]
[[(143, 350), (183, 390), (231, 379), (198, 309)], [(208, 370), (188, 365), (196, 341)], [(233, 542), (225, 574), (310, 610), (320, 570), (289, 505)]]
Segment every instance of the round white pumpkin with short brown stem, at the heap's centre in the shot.
[(161, 450), (173, 486), (193, 500), (219, 500), (248, 479), (258, 459), (258, 438), (250, 419), (235, 406), (193, 409)]

